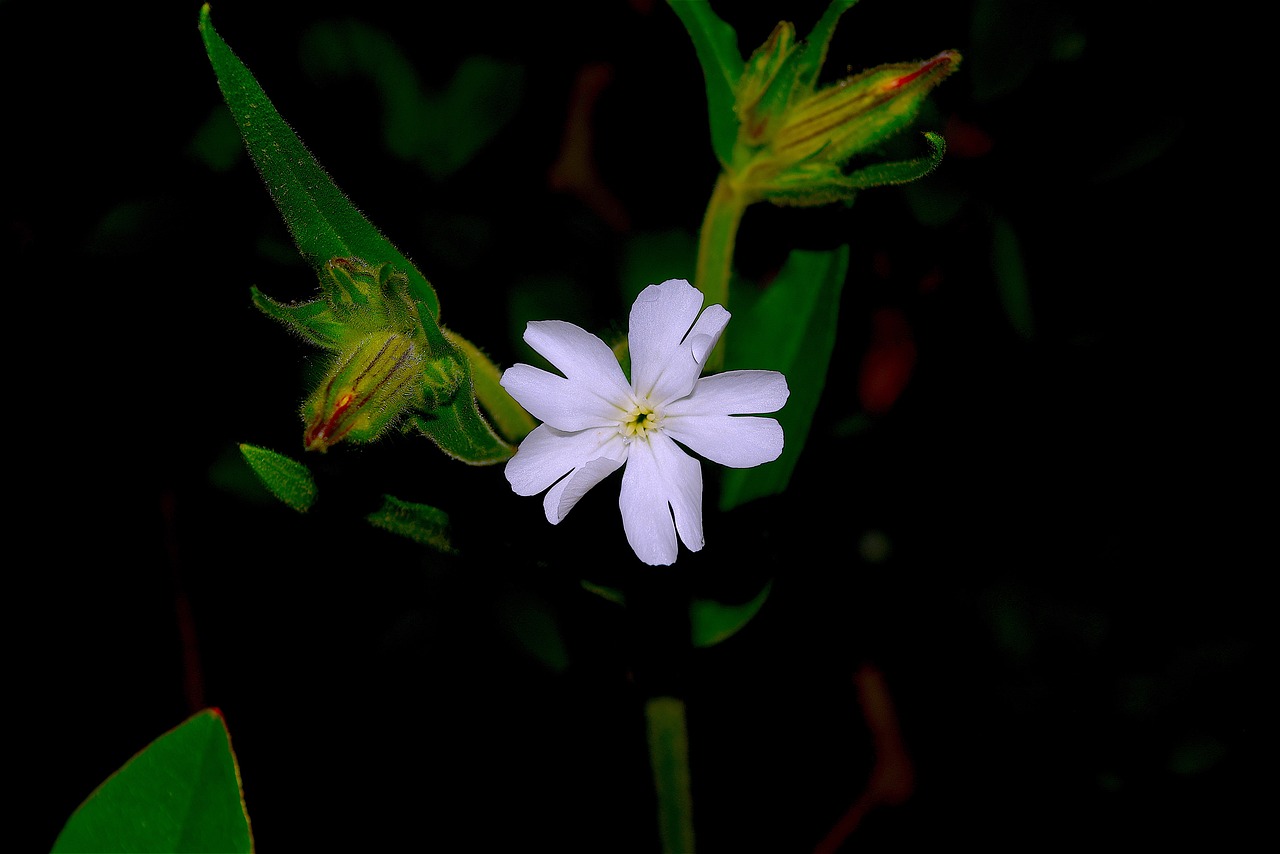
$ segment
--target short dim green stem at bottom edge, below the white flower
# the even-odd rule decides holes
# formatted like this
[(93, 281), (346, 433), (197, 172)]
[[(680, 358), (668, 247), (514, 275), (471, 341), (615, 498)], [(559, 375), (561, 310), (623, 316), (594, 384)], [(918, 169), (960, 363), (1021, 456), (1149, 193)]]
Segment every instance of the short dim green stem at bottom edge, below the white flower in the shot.
[(675, 697), (654, 697), (645, 703), (644, 713), (649, 730), (649, 762), (658, 794), (662, 850), (666, 854), (692, 854), (694, 799), (685, 703)]

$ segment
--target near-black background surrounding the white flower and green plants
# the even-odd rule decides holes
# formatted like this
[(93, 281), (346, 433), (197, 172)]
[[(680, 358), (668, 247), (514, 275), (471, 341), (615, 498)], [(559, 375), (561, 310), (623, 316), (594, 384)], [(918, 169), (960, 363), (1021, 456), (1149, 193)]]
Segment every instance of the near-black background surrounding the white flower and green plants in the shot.
[[(262, 5), (221, 0), (214, 23), (499, 364), (527, 357), (526, 320), (621, 323), (634, 259), (696, 234), (716, 163), (664, 4)], [(744, 51), (824, 6), (736, 5), (717, 8)], [(306, 516), (256, 487), (236, 446), (302, 457), (316, 353), (248, 287), (292, 300), (315, 279), (218, 142), (198, 9), (0, 1), (13, 850), (47, 850), (102, 778), (205, 705), (262, 851), (655, 850), (641, 703), (660, 690), (689, 702), (701, 849), (813, 850), (872, 767), (867, 663), (914, 790), (847, 850), (1247, 830), (1266, 767), (1267, 563), (1231, 480), (1261, 480), (1234, 355), (1251, 310), (1234, 209), (1202, 165), (1230, 150), (1215, 102), (1189, 96), (1213, 45), (1180, 13), (845, 14), (836, 70), (965, 56), (922, 117), (951, 151), (850, 209), (749, 211), (748, 274), (790, 246), (850, 245), (827, 392), (787, 493), (708, 501), (707, 548), (653, 570), (625, 548), (613, 481), (552, 528), (499, 469), (420, 437), (308, 458)], [(444, 177), (396, 157), (367, 81), (306, 70), (306, 33), (352, 20), (388, 33), (425, 90), (470, 55), (518, 65), (509, 123)], [(590, 122), (605, 207), (548, 181), (585, 67), (607, 74)], [(1029, 315), (1002, 301), (997, 223)], [(876, 318), (910, 369), (887, 397), (863, 373)], [(449, 512), (461, 553), (365, 524), (383, 493)], [(673, 595), (744, 600), (769, 580), (728, 641), (675, 662), (641, 643)]]

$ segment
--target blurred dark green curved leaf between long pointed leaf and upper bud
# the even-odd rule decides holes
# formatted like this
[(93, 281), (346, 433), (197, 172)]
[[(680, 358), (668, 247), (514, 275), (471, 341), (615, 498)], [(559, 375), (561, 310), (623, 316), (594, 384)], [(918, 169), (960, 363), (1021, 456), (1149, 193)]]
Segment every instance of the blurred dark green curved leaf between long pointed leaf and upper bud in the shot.
[(370, 79), (381, 100), (387, 146), (436, 181), (466, 165), (511, 122), (524, 90), (520, 65), (468, 56), (442, 92), (428, 93), (396, 41), (355, 19), (314, 26), (301, 50), (315, 77)]

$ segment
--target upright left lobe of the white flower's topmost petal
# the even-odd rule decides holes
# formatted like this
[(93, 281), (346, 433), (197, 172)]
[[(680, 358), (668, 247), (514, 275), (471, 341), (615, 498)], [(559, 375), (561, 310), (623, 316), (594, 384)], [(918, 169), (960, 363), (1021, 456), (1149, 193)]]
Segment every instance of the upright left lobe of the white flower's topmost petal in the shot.
[[(627, 346), (631, 351), (631, 388), (649, 396), (667, 364), (681, 350), (686, 333), (703, 309), (703, 294), (684, 279), (650, 284), (631, 306)], [(692, 361), (692, 353), (685, 357)]]

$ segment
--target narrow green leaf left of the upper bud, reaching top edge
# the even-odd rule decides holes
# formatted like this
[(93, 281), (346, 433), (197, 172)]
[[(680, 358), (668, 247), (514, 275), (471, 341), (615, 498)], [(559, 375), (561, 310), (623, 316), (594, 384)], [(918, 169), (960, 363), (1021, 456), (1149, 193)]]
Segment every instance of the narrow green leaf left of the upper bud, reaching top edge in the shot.
[(667, 0), (694, 41), (698, 61), (707, 79), (707, 117), (710, 122), (712, 150), (727, 165), (737, 140), (733, 90), (742, 77), (742, 52), (737, 32), (724, 23), (707, 0)]

